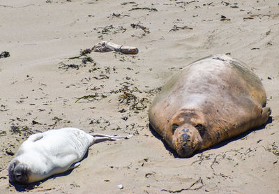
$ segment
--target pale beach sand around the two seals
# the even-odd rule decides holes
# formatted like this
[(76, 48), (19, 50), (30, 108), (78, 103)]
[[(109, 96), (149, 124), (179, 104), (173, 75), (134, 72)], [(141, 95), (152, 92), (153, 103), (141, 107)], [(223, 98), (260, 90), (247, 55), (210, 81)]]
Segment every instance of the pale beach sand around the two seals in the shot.
[[(8, 163), (29, 135), (21, 126), (33, 133), (73, 126), (134, 135), (93, 145), (80, 167), (27, 188), (31, 193), (279, 193), (278, 1), (123, 2), (0, 1), (0, 52), (10, 52), (0, 59), (0, 193), (17, 192), (8, 182)], [(145, 31), (130, 25), (139, 22)], [(102, 29), (94, 28), (110, 25), (103, 40), (138, 47), (135, 57), (92, 52), (95, 66), (59, 68), (61, 62), (81, 65), (68, 58), (100, 42)], [(174, 25), (193, 29), (170, 31)], [(175, 158), (149, 129), (149, 104), (179, 68), (216, 53), (230, 53), (262, 79), (272, 122), (191, 158)], [(125, 86), (135, 101), (121, 98)], [(107, 97), (75, 103), (94, 94)]]

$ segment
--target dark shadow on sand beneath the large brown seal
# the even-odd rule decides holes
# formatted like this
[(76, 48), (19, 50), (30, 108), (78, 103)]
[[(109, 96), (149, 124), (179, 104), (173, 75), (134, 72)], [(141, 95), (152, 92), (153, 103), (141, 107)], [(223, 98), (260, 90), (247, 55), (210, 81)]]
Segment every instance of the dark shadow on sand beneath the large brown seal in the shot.
[[(209, 150), (209, 149), (218, 149), (220, 147), (223, 147), (225, 146), (226, 144), (228, 144), (229, 142), (233, 142), (233, 141), (236, 141), (236, 140), (240, 140), (242, 139), (243, 137), (246, 137), (246, 135), (249, 135), (250, 133), (254, 132), (254, 131), (257, 131), (257, 130), (262, 130), (266, 127), (267, 124), (271, 124), (272, 123), (272, 117), (269, 117), (269, 119), (266, 121), (266, 123), (259, 127), (259, 128), (255, 128), (255, 129), (251, 129), (251, 130), (248, 130), (246, 131), (245, 133), (242, 133), (241, 135), (238, 135), (232, 139), (229, 139), (229, 140), (225, 140), (223, 142), (220, 142), (218, 144), (216, 144), (215, 146), (213, 147), (210, 147), (208, 149), (204, 149), (202, 151), (196, 151), (194, 152), (194, 154), (192, 156), (194, 156), (195, 154), (199, 154), (199, 153), (202, 153), (203, 151), (205, 150)], [(171, 147), (169, 147), (169, 145), (167, 144), (167, 142), (165, 142), (165, 140), (163, 140), (163, 138), (152, 128), (152, 126), (149, 124), (149, 128), (151, 130), (151, 133), (152, 135), (154, 135), (154, 137), (156, 137), (157, 139), (161, 140), (165, 146), (165, 148), (167, 149), (167, 151), (171, 152), (173, 155), (174, 155), (174, 158), (182, 158), (181, 156), (179, 156), (176, 151), (174, 151), (174, 149), (172, 149)], [(190, 156), (190, 157), (192, 157)], [(188, 157), (188, 158), (190, 158)]]

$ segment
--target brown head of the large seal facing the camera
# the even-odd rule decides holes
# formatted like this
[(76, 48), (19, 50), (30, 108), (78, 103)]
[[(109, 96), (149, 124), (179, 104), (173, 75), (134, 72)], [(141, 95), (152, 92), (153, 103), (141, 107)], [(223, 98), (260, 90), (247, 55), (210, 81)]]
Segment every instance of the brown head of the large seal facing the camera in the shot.
[(179, 156), (190, 157), (202, 146), (204, 133), (206, 128), (202, 113), (182, 109), (169, 122), (166, 140)]

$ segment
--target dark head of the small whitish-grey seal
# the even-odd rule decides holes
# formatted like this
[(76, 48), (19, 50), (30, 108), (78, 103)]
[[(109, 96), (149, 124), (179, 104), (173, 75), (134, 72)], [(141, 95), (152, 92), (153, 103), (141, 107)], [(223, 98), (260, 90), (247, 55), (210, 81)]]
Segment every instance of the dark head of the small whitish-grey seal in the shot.
[(29, 177), (29, 168), (27, 164), (20, 161), (11, 161), (8, 167), (9, 179), (13, 183), (27, 184)]

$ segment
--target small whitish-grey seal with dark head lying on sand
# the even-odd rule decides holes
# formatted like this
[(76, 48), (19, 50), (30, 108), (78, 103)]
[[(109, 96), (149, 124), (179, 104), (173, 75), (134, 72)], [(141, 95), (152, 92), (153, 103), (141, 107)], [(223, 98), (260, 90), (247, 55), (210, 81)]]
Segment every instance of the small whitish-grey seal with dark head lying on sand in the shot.
[(78, 128), (33, 134), (22, 143), (15, 158), (10, 161), (9, 179), (14, 183), (30, 184), (66, 172), (80, 165), (79, 162), (92, 144), (129, 137), (90, 135)]

